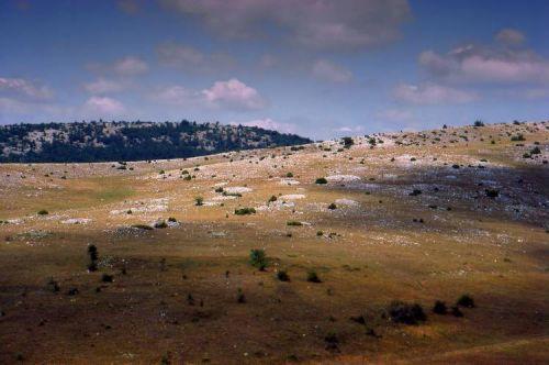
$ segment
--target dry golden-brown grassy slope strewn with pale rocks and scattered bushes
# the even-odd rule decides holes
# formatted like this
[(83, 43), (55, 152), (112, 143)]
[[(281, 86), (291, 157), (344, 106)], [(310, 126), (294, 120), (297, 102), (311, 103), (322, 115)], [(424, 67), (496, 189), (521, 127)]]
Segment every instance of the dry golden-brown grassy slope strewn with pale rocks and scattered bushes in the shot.
[(549, 123), (347, 143), (0, 165), (0, 363), (549, 363)]

